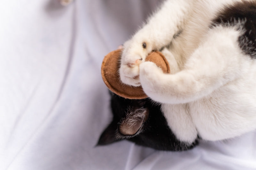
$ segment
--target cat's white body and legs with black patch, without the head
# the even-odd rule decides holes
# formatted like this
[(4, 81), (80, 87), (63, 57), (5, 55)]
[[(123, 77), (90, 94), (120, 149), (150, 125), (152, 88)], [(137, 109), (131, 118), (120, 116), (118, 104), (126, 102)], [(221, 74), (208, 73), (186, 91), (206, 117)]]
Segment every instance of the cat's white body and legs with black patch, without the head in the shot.
[[(124, 43), (121, 81), (161, 104), (181, 142), (237, 137), (256, 128), (255, 41), (256, 1), (167, 0)], [(153, 50), (171, 74), (145, 62)]]

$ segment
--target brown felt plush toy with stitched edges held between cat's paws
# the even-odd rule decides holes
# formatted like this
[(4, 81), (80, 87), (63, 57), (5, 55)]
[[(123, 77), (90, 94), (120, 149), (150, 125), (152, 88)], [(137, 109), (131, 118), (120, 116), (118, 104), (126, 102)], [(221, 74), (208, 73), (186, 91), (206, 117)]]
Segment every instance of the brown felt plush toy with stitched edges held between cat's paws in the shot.
[[(141, 86), (135, 87), (121, 82), (118, 69), (120, 68), (120, 57), (122, 50), (118, 49), (108, 53), (101, 65), (101, 76), (109, 90), (117, 95), (128, 99), (145, 99), (148, 96), (143, 92)], [(164, 73), (170, 73), (169, 63), (159, 51), (151, 52), (146, 61), (154, 62)]]

